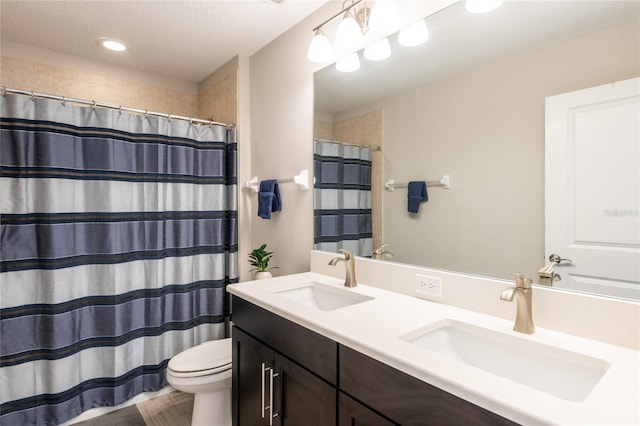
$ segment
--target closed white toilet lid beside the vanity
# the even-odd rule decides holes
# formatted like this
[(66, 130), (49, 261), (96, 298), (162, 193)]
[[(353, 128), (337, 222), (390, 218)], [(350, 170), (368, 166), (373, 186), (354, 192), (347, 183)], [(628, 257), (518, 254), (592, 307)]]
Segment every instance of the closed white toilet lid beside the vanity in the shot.
[(178, 373), (231, 368), (231, 339), (212, 340), (194, 346), (169, 360), (169, 369)]

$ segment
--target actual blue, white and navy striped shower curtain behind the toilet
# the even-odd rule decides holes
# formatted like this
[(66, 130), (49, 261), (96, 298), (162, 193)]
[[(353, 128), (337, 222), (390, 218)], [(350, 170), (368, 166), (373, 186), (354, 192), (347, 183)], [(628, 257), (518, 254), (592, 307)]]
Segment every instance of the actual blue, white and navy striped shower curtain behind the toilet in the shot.
[(167, 385), (225, 337), (234, 129), (2, 97), (0, 423), (54, 425)]

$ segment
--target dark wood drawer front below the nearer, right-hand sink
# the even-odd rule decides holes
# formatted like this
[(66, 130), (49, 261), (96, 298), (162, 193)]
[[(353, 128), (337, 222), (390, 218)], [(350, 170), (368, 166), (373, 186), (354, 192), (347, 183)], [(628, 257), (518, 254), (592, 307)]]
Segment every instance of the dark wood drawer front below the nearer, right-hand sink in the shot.
[(455, 395), (340, 345), (340, 389), (402, 425), (515, 425)]

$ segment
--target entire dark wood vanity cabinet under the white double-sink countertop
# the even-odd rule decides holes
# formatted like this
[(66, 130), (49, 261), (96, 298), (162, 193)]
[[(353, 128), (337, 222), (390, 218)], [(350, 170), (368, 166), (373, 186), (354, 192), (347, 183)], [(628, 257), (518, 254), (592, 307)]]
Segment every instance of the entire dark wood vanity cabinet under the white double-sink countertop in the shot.
[(515, 424), (237, 297), (233, 322), (234, 426)]

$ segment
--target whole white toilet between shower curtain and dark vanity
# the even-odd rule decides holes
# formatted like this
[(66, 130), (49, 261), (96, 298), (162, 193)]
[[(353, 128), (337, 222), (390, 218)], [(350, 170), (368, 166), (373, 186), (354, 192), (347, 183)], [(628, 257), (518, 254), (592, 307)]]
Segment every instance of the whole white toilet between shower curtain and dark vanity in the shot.
[(192, 393), (192, 426), (231, 426), (231, 339), (194, 346), (169, 360), (167, 381)]

